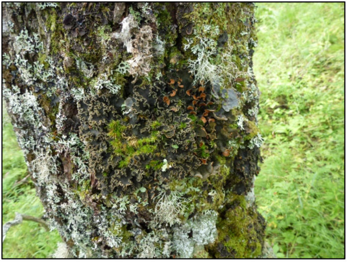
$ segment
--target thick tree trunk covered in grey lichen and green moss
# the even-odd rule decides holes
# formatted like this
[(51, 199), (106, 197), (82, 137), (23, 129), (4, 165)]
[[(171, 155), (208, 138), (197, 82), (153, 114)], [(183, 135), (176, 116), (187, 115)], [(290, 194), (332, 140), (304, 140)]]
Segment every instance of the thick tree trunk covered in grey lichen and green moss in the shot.
[(79, 258), (255, 258), (251, 3), (3, 3), (3, 96)]

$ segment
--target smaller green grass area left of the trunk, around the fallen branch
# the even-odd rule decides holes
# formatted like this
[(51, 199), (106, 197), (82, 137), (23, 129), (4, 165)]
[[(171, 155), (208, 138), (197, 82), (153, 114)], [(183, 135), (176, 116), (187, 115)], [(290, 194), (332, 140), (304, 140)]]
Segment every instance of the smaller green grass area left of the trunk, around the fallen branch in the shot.
[[(2, 129), (2, 224), (14, 219), (15, 212), (35, 217), (43, 215), (43, 206), (35, 195), (34, 184), (27, 176), (23, 153), (12, 125)], [(19, 182), (19, 183), (18, 183)], [(61, 242), (58, 232), (46, 232), (39, 224), (23, 221), (7, 232), (2, 246), (3, 258), (47, 258)]]

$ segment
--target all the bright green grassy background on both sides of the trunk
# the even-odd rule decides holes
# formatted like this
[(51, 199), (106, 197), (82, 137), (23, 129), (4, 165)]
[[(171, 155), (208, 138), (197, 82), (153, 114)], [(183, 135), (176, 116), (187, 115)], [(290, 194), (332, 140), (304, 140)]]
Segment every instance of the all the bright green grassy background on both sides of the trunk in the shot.
[[(344, 4), (257, 3), (254, 72), (262, 95), (259, 211), (279, 258), (343, 258)], [(2, 132), (2, 223), (41, 216), (12, 126)], [(18, 183), (19, 182), (19, 183)], [(46, 258), (60, 237), (35, 222), (11, 228), (3, 258)]]

